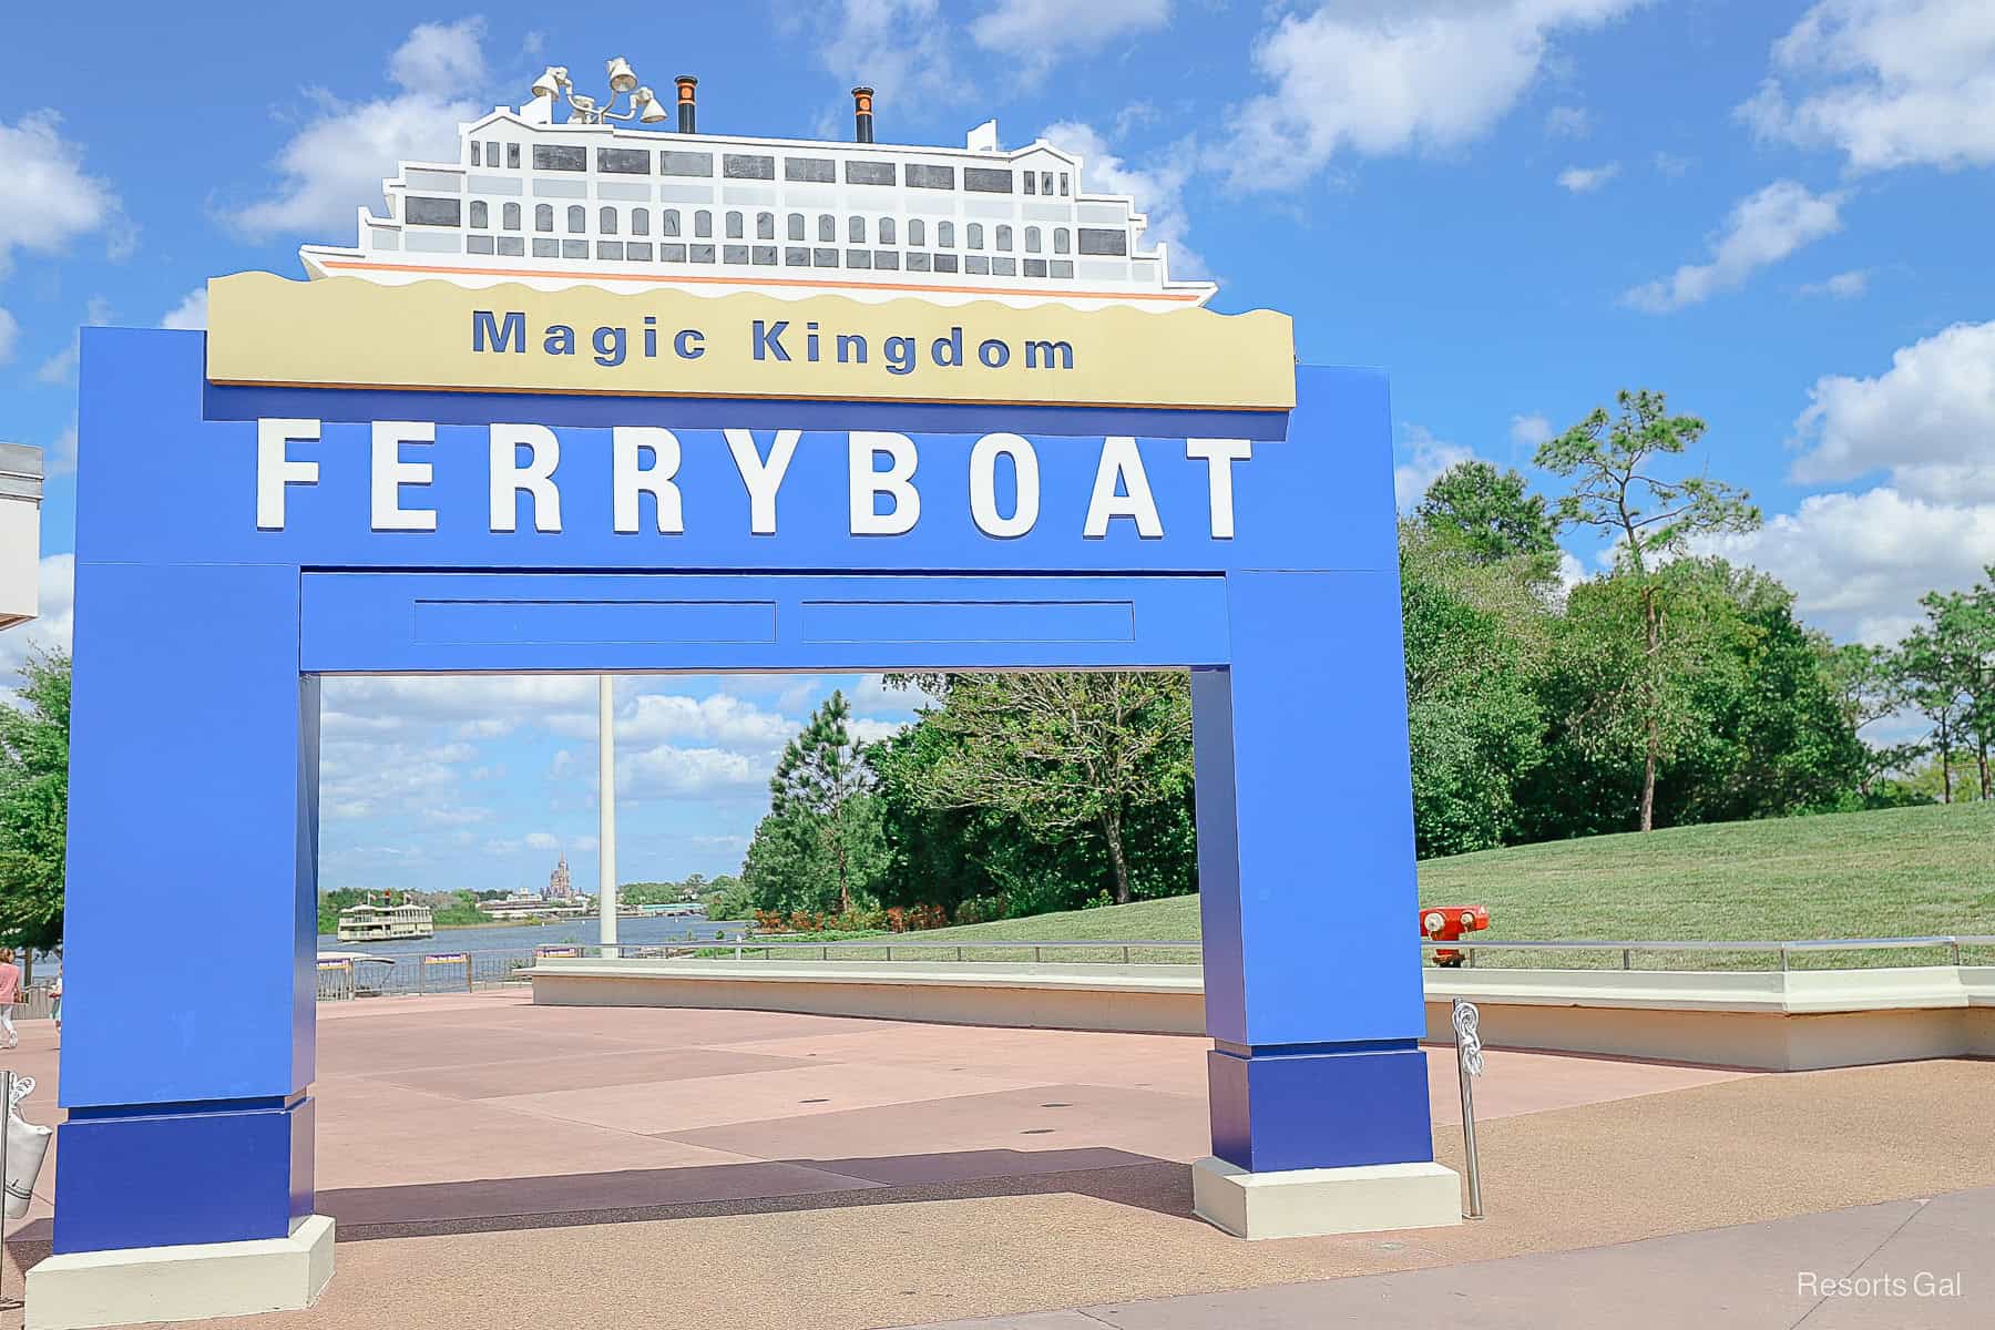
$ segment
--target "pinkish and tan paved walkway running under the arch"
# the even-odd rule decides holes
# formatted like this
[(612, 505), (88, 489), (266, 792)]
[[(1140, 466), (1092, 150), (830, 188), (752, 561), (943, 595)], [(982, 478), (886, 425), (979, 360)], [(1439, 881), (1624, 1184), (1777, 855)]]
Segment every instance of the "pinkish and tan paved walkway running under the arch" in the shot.
[[(511, 993), (321, 1007), (319, 1208), (339, 1222), (339, 1276), (311, 1312), (235, 1324), (868, 1330), (1444, 1280), (1995, 1186), (1995, 1063), (1740, 1075), (1492, 1053), (1476, 1089), (1486, 1222), (1237, 1242), (1189, 1212), (1207, 1047)], [(42, 1077), (28, 1109), (48, 1121), (46, 1023), (12, 1057)], [(1454, 1163), (1452, 1063), (1432, 1057)], [(50, 1180), (10, 1232), (14, 1288), (12, 1262), (46, 1252)], [(1985, 1218), (1963, 1222), (1995, 1244)], [(1670, 1280), (1660, 1256), (1640, 1270)]]

